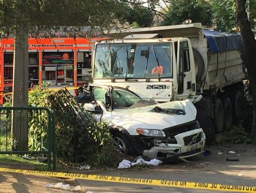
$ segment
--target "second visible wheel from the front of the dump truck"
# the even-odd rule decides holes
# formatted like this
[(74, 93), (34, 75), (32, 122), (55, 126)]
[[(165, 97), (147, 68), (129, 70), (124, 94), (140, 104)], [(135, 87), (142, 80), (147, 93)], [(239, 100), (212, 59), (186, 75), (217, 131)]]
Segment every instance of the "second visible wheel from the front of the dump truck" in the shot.
[(224, 114), (223, 114), (223, 106), (220, 99), (216, 100), (215, 107), (214, 107), (214, 127), (216, 133), (223, 132), (223, 125), (224, 125)]

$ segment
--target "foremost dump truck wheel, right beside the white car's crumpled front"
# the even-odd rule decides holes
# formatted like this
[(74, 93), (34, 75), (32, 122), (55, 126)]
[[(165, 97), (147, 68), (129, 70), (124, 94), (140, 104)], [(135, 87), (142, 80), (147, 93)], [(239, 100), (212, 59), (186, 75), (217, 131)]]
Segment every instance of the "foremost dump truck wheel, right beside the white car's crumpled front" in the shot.
[(212, 124), (212, 120), (210, 117), (205, 114), (205, 111), (199, 108), (196, 113), (196, 120), (199, 121), (203, 132), (205, 133), (206, 137), (206, 144), (212, 143), (214, 139), (214, 127)]

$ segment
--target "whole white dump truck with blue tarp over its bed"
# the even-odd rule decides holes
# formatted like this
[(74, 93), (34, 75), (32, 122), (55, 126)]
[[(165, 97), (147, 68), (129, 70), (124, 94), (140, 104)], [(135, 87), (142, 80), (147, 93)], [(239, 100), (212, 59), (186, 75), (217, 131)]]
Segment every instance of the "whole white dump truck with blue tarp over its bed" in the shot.
[(93, 83), (158, 102), (190, 99), (209, 141), (230, 127), (245, 78), (239, 34), (205, 30), (201, 23), (112, 34), (125, 37), (95, 43)]

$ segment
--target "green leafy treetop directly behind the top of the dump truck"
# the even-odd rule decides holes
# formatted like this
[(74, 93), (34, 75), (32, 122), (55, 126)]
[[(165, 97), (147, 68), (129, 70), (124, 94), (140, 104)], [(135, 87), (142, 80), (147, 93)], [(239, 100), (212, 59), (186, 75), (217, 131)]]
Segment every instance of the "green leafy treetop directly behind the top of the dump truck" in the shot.
[(179, 0), (165, 3), (169, 8), (165, 13), (163, 26), (181, 24), (186, 19), (191, 19), (193, 23), (199, 22), (204, 26), (210, 26), (212, 12), (210, 4), (205, 0)]

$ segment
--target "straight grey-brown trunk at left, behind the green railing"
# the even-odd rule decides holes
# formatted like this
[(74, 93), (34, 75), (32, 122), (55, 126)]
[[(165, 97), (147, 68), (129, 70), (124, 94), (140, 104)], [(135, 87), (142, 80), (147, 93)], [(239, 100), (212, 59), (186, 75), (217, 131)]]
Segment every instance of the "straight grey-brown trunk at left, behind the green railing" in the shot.
[[(28, 107), (28, 35), (17, 27), (13, 63), (12, 106)], [(28, 150), (28, 111), (12, 111), (12, 150)]]

